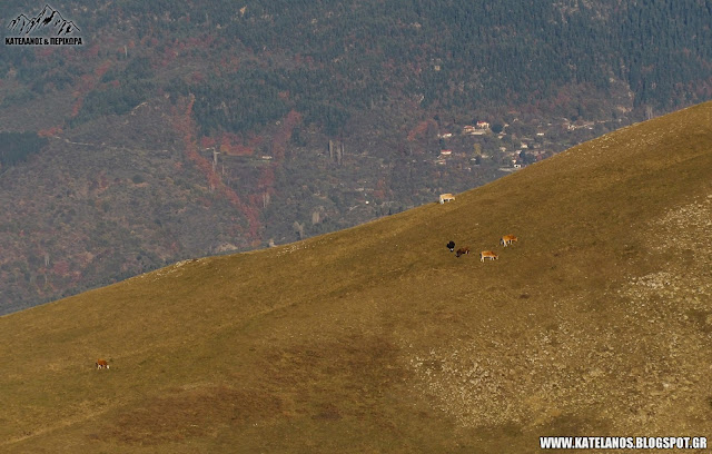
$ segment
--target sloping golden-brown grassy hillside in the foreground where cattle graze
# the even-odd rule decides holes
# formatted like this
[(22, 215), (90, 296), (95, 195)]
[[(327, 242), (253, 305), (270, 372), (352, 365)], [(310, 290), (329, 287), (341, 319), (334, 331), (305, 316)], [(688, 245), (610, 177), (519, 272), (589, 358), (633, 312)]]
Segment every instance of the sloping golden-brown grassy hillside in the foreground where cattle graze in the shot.
[[(700, 105), (451, 204), (1, 317), (0, 451), (498, 453), (546, 434), (709, 435), (710, 125)], [(510, 233), (520, 241), (498, 246)], [(475, 255), (455, 258), (449, 239)]]

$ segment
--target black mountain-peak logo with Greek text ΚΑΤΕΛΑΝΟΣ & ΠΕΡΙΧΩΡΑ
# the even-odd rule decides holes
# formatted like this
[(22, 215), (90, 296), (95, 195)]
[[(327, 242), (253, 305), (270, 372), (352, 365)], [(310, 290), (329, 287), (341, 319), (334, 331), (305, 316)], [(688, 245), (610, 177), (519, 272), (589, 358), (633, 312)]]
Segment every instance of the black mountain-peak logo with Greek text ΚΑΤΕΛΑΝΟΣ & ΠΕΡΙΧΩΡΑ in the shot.
[[(81, 31), (71, 20), (62, 17), (59, 10), (44, 4), (36, 16), (19, 14), (7, 28), (14, 36), (4, 37), (6, 46), (82, 46)], [(43, 36), (32, 36), (43, 34)]]

